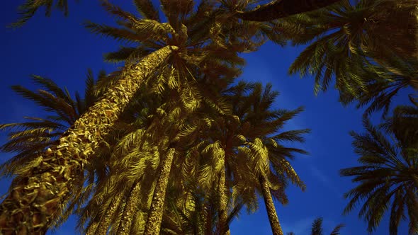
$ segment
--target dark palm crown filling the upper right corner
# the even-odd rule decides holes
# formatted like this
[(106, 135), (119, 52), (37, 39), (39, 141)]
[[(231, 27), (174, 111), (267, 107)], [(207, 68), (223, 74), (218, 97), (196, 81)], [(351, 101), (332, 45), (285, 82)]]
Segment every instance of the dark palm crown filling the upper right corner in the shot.
[[(287, 18), (300, 25), (290, 38), (294, 45), (310, 43), (290, 66), (290, 74), (315, 76), (315, 92), (324, 91), (335, 77), (341, 93), (368, 93), (368, 80), (358, 76), (363, 64), (384, 64), (395, 55), (416, 57), (418, 1), (349, 0), (320, 11)], [(394, 33), (392, 33), (394, 32)], [(372, 60), (370, 60), (372, 59)], [(373, 91), (371, 91), (373, 93)]]

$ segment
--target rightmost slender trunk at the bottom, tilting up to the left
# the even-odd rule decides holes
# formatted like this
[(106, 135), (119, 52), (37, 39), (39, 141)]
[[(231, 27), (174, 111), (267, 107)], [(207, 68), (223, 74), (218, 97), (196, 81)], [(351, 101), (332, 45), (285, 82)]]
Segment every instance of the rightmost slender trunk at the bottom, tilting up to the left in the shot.
[(266, 178), (264, 176), (260, 176), (259, 182), (261, 185), (261, 190), (263, 192), (264, 204), (266, 205), (267, 215), (269, 216), (271, 231), (273, 232), (273, 235), (283, 235), (280, 223), (278, 222), (276, 208), (273, 204), (273, 197), (271, 197), (270, 188), (267, 184)]

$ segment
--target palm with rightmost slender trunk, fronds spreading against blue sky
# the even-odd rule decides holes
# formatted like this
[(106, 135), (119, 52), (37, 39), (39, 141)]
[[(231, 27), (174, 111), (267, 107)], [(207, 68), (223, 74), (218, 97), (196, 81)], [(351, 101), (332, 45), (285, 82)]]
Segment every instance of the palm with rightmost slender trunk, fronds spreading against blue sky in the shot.
[[(278, 93), (271, 91), (268, 85), (261, 90), (256, 86), (249, 95), (247, 112), (251, 112), (243, 118), (242, 122), (249, 123), (249, 128), (243, 136), (247, 139), (245, 147), (239, 151), (247, 156), (247, 172), (252, 172), (256, 188), (264, 197), (267, 214), (273, 234), (283, 234), (273, 205), (273, 197), (281, 203), (287, 203), (284, 189), (288, 180), (304, 189), (305, 185), (298, 177), (287, 159), (293, 159), (293, 153), (306, 154), (302, 149), (285, 147), (281, 143), (286, 141), (303, 142), (302, 134), (309, 130), (289, 130), (279, 132), (281, 127), (290, 119), (298, 115), (303, 109), (296, 110), (270, 110)], [(256, 133), (256, 134), (254, 134)]]

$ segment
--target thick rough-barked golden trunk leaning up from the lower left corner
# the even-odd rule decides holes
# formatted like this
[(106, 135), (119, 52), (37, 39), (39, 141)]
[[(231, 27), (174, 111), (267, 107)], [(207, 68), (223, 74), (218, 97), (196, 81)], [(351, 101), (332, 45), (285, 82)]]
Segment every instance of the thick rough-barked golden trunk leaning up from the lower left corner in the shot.
[(40, 234), (60, 214), (74, 178), (94, 154), (103, 137), (128, 105), (140, 84), (156, 71), (177, 47), (164, 47), (132, 66), (101, 101), (81, 115), (57, 146), (47, 149), (33, 168), (13, 180), (9, 195), (0, 205), (0, 234)]

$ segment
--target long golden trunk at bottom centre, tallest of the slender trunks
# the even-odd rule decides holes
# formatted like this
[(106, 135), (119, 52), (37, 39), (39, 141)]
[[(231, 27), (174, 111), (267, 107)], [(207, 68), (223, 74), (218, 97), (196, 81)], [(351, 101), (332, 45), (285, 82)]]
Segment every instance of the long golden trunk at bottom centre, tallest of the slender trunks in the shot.
[(154, 195), (152, 195), (151, 207), (145, 224), (144, 235), (158, 235), (162, 222), (162, 214), (164, 212), (164, 200), (166, 195), (166, 188), (169, 183), (169, 176), (171, 171), (171, 164), (173, 164), (174, 152), (176, 149), (170, 148), (167, 151), (166, 157), (162, 161), (162, 166), (159, 171), (157, 184), (155, 185)]

